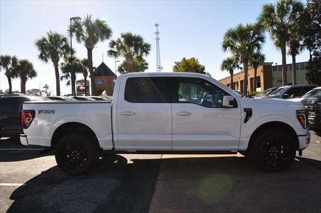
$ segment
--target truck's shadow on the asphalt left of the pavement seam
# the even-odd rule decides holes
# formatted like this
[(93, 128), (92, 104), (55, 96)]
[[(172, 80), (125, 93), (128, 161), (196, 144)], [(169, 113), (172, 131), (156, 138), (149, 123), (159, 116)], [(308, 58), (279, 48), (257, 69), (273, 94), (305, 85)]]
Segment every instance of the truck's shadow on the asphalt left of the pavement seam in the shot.
[(104, 154), (82, 176), (54, 166), (16, 189), (8, 212), (148, 212), (160, 161)]

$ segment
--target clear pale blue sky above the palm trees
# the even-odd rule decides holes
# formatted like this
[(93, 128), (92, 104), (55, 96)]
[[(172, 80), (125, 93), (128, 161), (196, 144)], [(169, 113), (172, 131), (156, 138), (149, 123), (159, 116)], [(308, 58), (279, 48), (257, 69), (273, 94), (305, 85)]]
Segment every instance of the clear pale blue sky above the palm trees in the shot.
[[(213, 78), (219, 80), (228, 76), (220, 70), (222, 60), (230, 56), (221, 50), (224, 33), (239, 23), (255, 23), (262, 6), (267, 1), (4, 1), (0, 0), (0, 54), (16, 55), (19, 59), (30, 60), (38, 77), (27, 81), (27, 90), (48, 84), (55, 94), (55, 72), (51, 62), (43, 63), (37, 57), (34, 45), (36, 39), (47, 31), (67, 35), (69, 19), (83, 18), (91, 14), (107, 22), (112, 29), (112, 39), (122, 32), (141, 35), (152, 45), (146, 57), (149, 69), (156, 71), (155, 23), (159, 24), (159, 47), (163, 72), (173, 72), (176, 61), (183, 57), (195, 57), (206, 67)], [(93, 66), (102, 62), (115, 70), (114, 59), (107, 56), (108, 41), (100, 42), (93, 50)], [(73, 40), (78, 58), (87, 57), (83, 44)], [(266, 62), (281, 64), (281, 53), (273, 47), (266, 34), (262, 52)], [(304, 51), (296, 62), (307, 61), (309, 54)], [(62, 59), (61, 59), (62, 61)], [(61, 62), (60, 61), (60, 62)], [(287, 64), (291, 58), (287, 57)], [(275, 64), (273, 64), (275, 65)], [(118, 75), (118, 73), (117, 73)], [(77, 75), (81, 79), (82, 75)], [(71, 93), (62, 81), (62, 95)], [(9, 88), (4, 71), (0, 72), (0, 89)], [(20, 80), (13, 80), (13, 90), (20, 90)]]

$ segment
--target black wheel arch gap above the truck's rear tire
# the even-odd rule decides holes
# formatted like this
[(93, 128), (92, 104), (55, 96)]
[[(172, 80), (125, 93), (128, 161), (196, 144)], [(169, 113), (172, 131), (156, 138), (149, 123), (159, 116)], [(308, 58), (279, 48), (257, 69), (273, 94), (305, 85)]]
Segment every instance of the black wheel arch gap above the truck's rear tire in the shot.
[(94, 131), (91, 128), (89, 128), (87, 125), (79, 122), (67, 122), (60, 125), (54, 131), (51, 137), (51, 147), (55, 148), (57, 143), (60, 141), (60, 139), (70, 133), (85, 134), (93, 139), (93, 142), (97, 145), (98, 148), (100, 147), (99, 141)]

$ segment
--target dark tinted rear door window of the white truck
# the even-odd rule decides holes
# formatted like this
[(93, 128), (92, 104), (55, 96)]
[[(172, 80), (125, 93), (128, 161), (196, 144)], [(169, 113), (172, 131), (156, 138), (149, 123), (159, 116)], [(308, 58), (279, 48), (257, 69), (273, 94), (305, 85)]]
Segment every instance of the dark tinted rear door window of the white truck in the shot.
[(131, 103), (170, 103), (170, 85), (167, 77), (128, 78), (125, 100)]

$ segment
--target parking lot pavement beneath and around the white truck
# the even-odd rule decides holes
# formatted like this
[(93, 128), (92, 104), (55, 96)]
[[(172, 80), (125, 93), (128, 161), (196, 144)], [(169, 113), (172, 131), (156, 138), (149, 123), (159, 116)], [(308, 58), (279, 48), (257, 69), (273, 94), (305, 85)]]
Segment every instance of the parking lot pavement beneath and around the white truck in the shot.
[(0, 139), (0, 212), (321, 212), (321, 134), (284, 172), (242, 155), (104, 154), (88, 175)]

